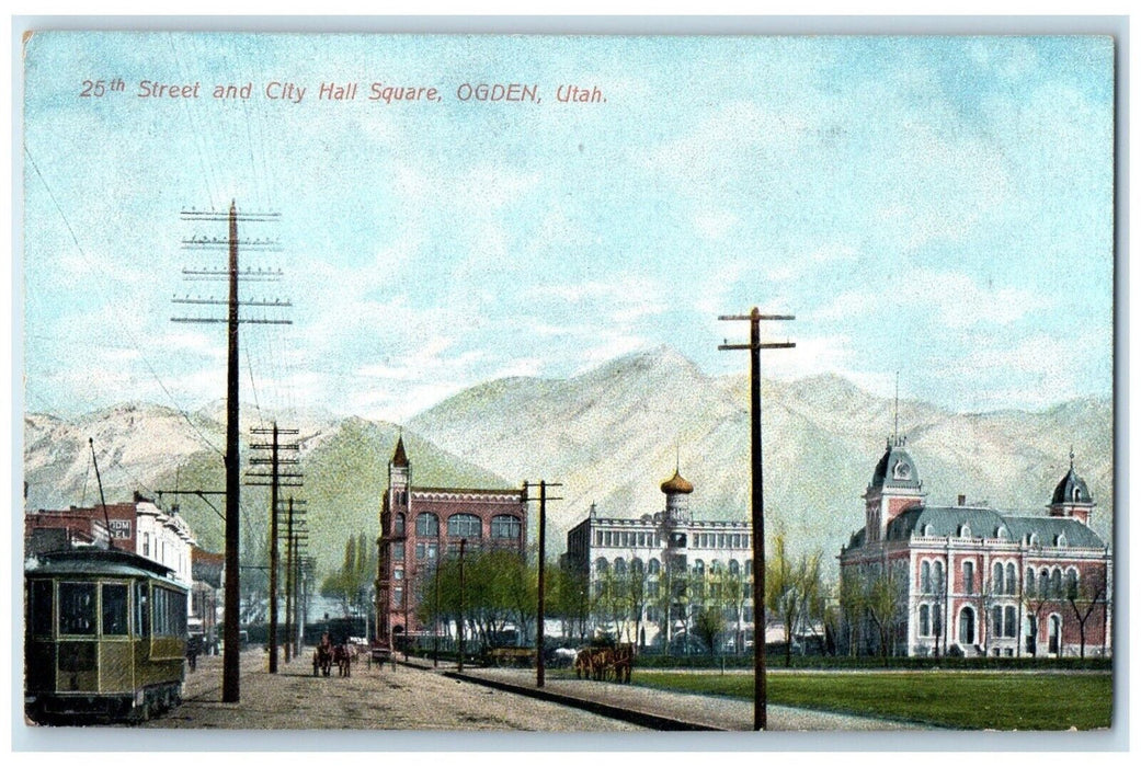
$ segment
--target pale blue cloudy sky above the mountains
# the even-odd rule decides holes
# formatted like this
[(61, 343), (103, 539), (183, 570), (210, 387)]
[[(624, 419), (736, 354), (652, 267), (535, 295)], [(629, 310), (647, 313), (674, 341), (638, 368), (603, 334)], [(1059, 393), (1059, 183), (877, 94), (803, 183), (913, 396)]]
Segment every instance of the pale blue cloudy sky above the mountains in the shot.
[[(1114, 70), (1104, 37), (606, 38), (39, 33), (25, 46), (25, 409), (242, 399), (403, 421), (507, 376), (669, 345), (710, 374), (843, 376), (957, 411), (1112, 386)], [(83, 96), (84, 80), (124, 89)], [(197, 82), (196, 98), (139, 96)], [(355, 100), (317, 98), (358, 83)], [(438, 102), (371, 102), (371, 83)], [(216, 99), (216, 84), (250, 86)], [(270, 99), (269, 83), (306, 89)], [(463, 100), (523, 83), (541, 99)], [(605, 102), (560, 103), (559, 86)], [(276, 95), (280, 86), (269, 92)], [(94, 92), (95, 88), (90, 90)]]

